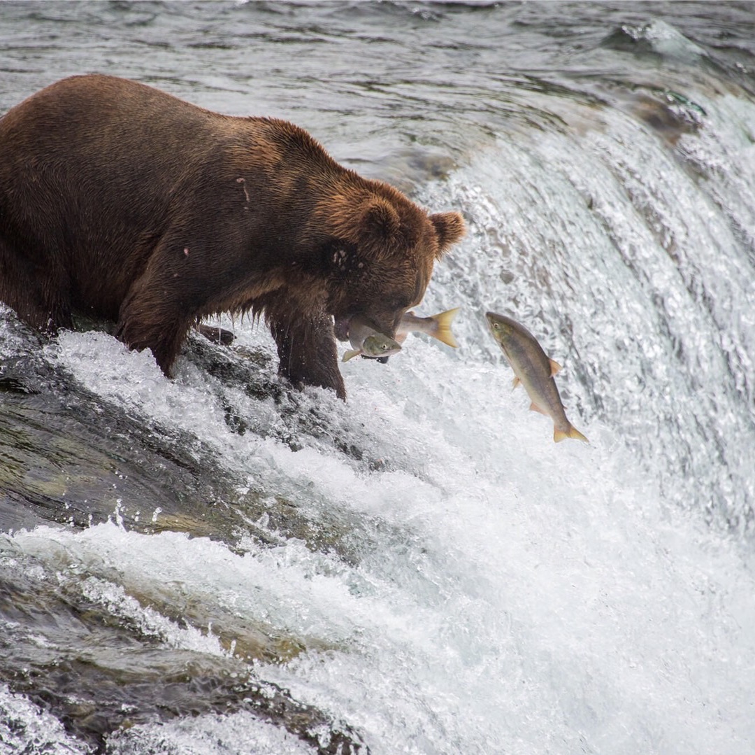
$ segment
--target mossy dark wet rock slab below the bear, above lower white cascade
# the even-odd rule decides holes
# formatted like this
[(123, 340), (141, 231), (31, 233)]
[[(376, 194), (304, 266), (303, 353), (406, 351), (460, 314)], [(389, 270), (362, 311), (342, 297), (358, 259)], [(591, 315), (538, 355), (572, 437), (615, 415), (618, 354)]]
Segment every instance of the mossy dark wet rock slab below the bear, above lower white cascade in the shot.
[(186, 532), (232, 548), (247, 535), (263, 545), (296, 537), (354, 561), (356, 521), (345, 512), (313, 520), (288, 496), (217, 475), (217, 451), (198, 438), (156, 432), (72, 387), (65, 396), (21, 392), (0, 402), (0, 531), (117, 517), (127, 529)]

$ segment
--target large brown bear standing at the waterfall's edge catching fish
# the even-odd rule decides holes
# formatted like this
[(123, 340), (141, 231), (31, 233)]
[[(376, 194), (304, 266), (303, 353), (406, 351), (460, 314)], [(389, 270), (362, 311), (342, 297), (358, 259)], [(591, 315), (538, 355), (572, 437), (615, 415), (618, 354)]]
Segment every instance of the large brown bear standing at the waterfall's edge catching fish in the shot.
[(464, 234), (334, 162), (291, 123), (203, 110), (113, 76), (72, 76), (0, 119), (0, 300), (55, 333), (115, 320), (170, 374), (190, 327), (263, 316), (279, 373), (346, 391), (334, 336), (393, 336)]

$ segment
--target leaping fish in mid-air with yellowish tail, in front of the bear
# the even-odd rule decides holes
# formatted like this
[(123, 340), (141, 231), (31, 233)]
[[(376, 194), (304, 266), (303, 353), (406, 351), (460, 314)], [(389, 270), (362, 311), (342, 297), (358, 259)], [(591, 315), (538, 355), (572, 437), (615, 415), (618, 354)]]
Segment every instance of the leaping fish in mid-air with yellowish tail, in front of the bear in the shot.
[(577, 438), (589, 442), (566, 419), (559, 389), (553, 379), (561, 365), (549, 359), (535, 336), (516, 320), (495, 312), (488, 312), (485, 317), (493, 338), (514, 371), (513, 387), (522, 383), (532, 400), (529, 408), (553, 419), (553, 440), (558, 443), (564, 438)]

